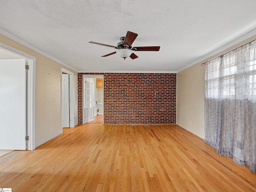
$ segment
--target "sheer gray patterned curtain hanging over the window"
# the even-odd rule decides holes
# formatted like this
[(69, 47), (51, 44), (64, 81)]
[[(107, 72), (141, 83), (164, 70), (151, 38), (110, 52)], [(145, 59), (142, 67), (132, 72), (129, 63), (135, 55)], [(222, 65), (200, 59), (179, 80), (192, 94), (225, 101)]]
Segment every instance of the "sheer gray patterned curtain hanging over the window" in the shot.
[(256, 40), (205, 64), (205, 140), (256, 173)]

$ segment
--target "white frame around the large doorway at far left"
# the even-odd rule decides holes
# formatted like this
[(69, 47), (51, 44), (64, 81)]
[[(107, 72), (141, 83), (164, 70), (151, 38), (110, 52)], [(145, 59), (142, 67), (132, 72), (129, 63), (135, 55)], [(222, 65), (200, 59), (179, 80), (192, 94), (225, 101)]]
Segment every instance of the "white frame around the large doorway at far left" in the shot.
[(0, 48), (18, 54), (26, 58), (29, 65), (27, 76), (27, 149), (34, 150), (36, 148), (36, 57), (26, 54), (20, 50), (0, 43)]

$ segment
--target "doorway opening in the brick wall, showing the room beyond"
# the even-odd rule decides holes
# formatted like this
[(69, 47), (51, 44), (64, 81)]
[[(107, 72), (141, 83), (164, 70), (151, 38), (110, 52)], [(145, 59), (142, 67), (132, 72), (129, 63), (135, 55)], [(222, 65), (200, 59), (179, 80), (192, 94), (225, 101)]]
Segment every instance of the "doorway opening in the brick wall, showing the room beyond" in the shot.
[[(104, 124), (103, 75), (83, 75), (83, 124)], [(101, 79), (101, 86), (98, 80)]]

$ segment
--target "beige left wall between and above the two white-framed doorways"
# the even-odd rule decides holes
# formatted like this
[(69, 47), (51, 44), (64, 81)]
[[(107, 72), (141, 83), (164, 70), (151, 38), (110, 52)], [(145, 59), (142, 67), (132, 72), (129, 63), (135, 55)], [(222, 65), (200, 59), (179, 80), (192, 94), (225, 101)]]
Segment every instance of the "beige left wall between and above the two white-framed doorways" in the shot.
[(3, 35), (0, 42), (36, 57), (36, 147), (61, 134), (61, 68), (74, 73), (74, 124), (77, 125), (77, 72)]

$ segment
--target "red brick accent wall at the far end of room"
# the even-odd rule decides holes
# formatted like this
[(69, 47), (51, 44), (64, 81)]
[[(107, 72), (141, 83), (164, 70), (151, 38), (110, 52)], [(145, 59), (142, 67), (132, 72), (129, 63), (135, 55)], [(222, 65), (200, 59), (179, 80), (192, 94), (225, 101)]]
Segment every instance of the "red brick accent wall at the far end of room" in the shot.
[[(78, 73), (78, 124), (82, 124), (82, 75)], [(105, 124), (176, 124), (176, 74), (104, 75)]]

